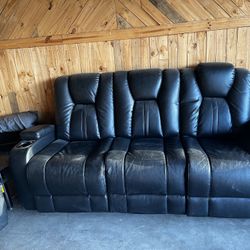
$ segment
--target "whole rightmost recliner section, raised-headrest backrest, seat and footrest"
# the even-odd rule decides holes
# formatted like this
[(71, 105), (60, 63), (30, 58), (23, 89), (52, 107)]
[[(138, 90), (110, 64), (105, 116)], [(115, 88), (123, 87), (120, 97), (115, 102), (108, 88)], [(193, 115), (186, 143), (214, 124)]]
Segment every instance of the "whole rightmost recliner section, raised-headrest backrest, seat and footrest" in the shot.
[(208, 63), (183, 69), (181, 75), (187, 213), (249, 217), (250, 154), (240, 133), (250, 121), (249, 72)]

